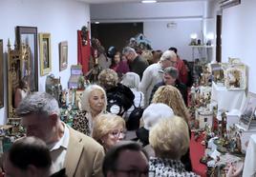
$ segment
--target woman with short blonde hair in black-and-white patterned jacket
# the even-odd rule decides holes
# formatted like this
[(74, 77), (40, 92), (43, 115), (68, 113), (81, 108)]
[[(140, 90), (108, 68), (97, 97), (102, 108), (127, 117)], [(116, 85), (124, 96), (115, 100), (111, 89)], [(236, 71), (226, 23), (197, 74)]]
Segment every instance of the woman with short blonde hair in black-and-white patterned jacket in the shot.
[(149, 161), (149, 176), (198, 176), (181, 163), (189, 147), (188, 126), (181, 117), (160, 120), (149, 132), (149, 143), (156, 153)]

